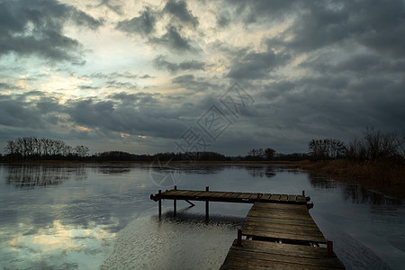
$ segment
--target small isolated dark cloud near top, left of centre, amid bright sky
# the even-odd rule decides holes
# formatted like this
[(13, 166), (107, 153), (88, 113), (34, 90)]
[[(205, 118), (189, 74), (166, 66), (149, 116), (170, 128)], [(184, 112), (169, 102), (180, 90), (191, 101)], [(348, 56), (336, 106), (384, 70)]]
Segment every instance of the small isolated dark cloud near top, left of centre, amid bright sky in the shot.
[(142, 36), (148, 36), (154, 33), (157, 23), (157, 12), (153, 11), (149, 6), (145, 6), (139, 12), (138, 17), (133, 17), (130, 20), (125, 20), (117, 24), (117, 29), (127, 33), (138, 33)]

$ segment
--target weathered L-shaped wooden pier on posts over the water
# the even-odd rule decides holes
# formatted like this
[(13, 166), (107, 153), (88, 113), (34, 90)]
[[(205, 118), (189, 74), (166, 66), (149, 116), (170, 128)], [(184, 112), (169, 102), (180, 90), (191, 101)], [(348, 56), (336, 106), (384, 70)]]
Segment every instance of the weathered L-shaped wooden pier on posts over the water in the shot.
[[(209, 218), (209, 202), (254, 203), (238, 238), (233, 241), (220, 269), (345, 269), (328, 241), (312, 220), (309, 210), (313, 203), (302, 195), (272, 193), (232, 193), (173, 190), (150, 195), (159, 202), (164, 199), (205, 202)], [(174, 211), (175, 213), (175, 211)], [(245, 237), (245, 238), (242, 238)]]

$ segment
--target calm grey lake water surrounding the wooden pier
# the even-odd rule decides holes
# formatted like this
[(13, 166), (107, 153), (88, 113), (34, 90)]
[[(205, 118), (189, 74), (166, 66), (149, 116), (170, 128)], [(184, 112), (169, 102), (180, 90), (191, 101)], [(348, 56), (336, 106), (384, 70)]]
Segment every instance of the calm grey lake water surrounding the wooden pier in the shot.
[(405, 204), (359, 185), (284, 166), (0, 165), (4, 269), (218, 269), (250, 204), (149, 199), (158, 189), (291, 193), (310, 210), (347, 269), (400, 269)]

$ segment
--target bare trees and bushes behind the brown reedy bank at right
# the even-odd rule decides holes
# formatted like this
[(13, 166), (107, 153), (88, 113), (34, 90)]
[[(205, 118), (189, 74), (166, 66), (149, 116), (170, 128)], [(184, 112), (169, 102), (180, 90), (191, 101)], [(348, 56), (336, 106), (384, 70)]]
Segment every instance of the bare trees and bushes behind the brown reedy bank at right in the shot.
[(363, 137), (353, 139), (347, 145), (339, 139), (312, 139), (308, 149), (312, 159), (402, 160), (405, 157), (405, 133), (367, 128)]

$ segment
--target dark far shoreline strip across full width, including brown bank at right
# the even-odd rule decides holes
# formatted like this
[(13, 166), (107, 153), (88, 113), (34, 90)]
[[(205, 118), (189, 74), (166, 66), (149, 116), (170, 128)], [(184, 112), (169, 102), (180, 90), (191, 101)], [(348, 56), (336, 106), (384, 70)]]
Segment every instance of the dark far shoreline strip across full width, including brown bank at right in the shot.
[[(0, 161), (7, 165), (155, 165), (157, 160), (26, 160), (26, 161)], [(341, 183), (361, 184), (366, 189), (375, 190), (396, 198), (405, 199), (405, 163), (392, 166), (389, 162), (355, 163), (344, 159), (325, 161), (193, 161), (175, 160), (167, 163), (160, 161), (161, 166), (168, 164), (177, 165), (204, 165), (204, 166), (285, 166), (301, 170), (310, 175), (329, 177)]]

